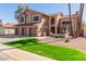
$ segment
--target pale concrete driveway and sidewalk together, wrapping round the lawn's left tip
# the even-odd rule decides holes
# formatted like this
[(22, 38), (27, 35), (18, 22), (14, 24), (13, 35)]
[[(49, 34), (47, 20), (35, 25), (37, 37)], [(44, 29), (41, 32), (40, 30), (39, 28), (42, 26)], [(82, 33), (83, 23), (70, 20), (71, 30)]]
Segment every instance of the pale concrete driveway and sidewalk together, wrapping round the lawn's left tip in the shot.
[(4, 42), (22, 38), (25, 37), (15, 35), (0, 35), (0, 61), (52, 61), (51, 59), (3, 44)]

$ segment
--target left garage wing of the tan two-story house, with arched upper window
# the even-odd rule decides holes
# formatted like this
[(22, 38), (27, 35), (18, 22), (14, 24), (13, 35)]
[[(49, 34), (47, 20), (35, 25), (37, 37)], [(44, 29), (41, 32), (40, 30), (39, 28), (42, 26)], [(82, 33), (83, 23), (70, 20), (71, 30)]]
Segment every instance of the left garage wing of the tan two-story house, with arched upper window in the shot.
[(44, 36), (49, 35), (49, 16), (38, 11), (25, 10), (17, 16), (16, 35)]

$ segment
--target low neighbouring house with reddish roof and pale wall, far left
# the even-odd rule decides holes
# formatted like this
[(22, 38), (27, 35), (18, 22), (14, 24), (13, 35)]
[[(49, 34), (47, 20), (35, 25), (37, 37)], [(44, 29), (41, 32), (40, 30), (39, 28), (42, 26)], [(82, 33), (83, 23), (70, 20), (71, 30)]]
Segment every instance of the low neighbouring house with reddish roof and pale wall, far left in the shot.
[(5, 35), (5, 34), (14, 34), (15, 29), (14, 29), (14, 24), (1, 24), (0, 25), (0, 35)]

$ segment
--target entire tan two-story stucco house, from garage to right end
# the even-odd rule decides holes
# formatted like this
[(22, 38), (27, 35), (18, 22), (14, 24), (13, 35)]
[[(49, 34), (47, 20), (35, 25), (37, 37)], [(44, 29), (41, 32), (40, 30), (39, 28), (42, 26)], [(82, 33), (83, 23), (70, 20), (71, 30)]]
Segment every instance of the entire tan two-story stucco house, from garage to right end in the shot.
[(51, 36), (64, 34), (67, 27), (70, 35), (79, 35), (78, 12), (72, 14), (72, 28), (69, 15), (62, 13), (45, 14), (32, 9), (24, 10), (17, 14), (19, 24), (15, 26), (16, 35), (25, 36)]

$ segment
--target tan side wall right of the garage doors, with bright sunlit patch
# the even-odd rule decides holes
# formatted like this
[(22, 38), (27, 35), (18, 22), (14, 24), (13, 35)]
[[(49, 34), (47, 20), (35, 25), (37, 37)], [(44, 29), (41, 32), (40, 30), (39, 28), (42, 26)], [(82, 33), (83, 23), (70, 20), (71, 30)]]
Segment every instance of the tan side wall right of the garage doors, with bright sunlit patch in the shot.
[(41, 14), (40, 23), (38, 23), (38, 36), (49, 35), (49, 17)]

